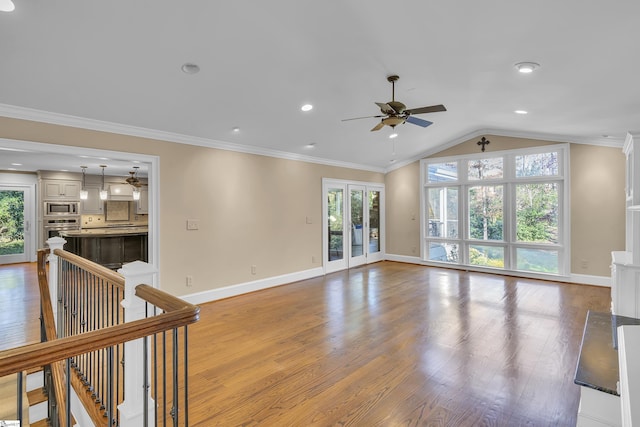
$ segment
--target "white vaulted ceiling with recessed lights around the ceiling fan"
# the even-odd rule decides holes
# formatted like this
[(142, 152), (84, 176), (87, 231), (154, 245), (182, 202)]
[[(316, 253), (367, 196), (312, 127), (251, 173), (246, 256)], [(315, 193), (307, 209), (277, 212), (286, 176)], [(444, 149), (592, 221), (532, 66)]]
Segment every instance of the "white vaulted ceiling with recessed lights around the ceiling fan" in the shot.
[[(14, 3), (0, 12), (5, 115), (380, 170), (489, 130), (611, 143), (640, 129), (637, 0)], [(342, 121), (379, 114), (390, 74), (408, 108), (448, 110), (398, 126), (395, 149), (390, 128), (370, 132), (378, 119)]]

